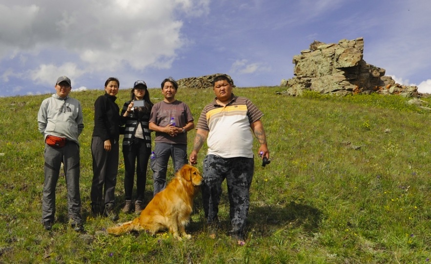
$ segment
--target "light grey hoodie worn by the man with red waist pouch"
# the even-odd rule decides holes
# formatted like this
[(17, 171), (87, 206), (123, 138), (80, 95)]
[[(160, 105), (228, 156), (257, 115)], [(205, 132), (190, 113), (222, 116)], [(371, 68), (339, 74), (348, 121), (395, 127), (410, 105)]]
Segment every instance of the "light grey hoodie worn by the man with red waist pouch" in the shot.
[(57, 94), (42, 101), (38, 113), (38, 126), (46, 138), (48, 135), (65, 137), (79, 144), (78, 136), (84, 129), (80, 101)]

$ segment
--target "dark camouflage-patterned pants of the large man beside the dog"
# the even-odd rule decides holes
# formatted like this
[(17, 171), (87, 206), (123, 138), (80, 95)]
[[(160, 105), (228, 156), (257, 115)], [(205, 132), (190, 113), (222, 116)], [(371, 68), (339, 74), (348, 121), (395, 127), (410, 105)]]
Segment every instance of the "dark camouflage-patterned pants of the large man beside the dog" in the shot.
[(254, 160), (252, 158), (221, 158), (216, 155), (206, 155), (202, 198), (208, 225), (218, 223), (217, 214), (222, 195), (222, 182), (226, 179), (232, 226), (230, 232), (235, 235), (244, 235), (253, 172)]

